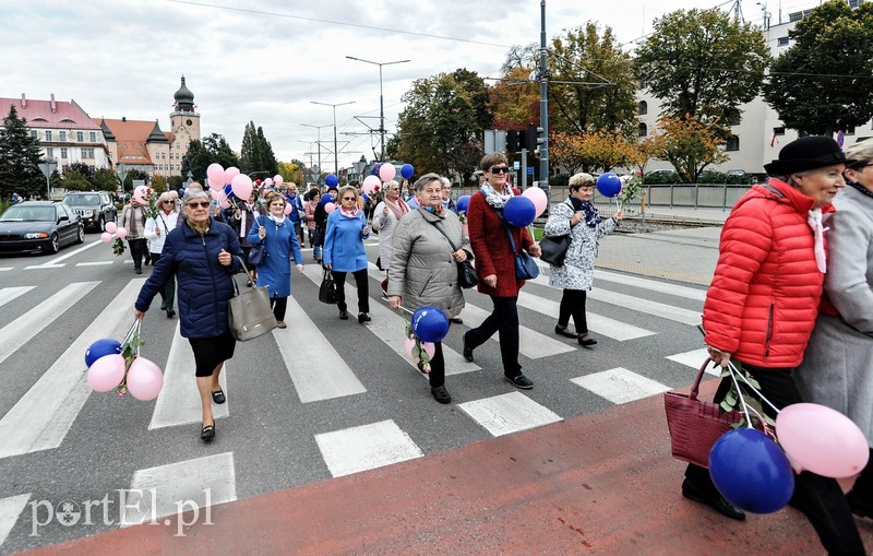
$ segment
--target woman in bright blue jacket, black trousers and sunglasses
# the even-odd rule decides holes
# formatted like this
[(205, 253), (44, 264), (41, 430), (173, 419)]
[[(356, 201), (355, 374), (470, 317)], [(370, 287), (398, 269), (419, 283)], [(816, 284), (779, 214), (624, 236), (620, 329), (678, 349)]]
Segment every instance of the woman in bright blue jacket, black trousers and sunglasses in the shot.
[(346, 186), (339, 190), (338, 208), (327, 216), (324, 235), (324, 267), (334, 275), (336, 305), (339, 318), (348, 319), (346, 305), (346, 274), (355, 275), (358, 286), (358, 322), (370, 321), (370, 288), (367, 279), (367, 251), (363, 240), (370, 237), (367, 216), (358, 209), (358, 190)]

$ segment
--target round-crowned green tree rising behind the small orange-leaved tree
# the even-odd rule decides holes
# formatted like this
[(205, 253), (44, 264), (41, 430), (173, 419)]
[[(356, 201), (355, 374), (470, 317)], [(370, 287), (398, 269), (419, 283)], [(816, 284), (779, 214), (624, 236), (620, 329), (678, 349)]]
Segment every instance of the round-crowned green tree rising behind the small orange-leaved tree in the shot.
[(636, 50), (636, 73), (665, 116), (716, 122), (722, 135), (755, 98), (770, 62), (761, 31), (715, 9), (679, 10), (655, 21)]

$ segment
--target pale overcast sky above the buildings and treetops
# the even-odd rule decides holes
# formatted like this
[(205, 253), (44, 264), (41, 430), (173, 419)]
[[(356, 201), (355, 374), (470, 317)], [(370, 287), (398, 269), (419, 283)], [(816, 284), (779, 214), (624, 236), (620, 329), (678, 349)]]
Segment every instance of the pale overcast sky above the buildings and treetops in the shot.
[[(768, 0), (777, 21), (814, 0)], [(762, 2), (763, 3), (763, 2)], [(682, 8), (718, 0), (548, 0), (548, 40), (591, 20), (622, 43)], [(762, 7), (742, 2), (746, 19)], [(372, 158), (383, 67), (385, 128), (394, 131), (410, 83), (466, 68), (499, 76), (512, 45), (539, 44), (538, 0), (0, 0), (0, 97), (74, 99), (92, 117), (154, 120), (169, 131), (172, 94), (184, 74), (204, 135), (219, 133), (239, 151), (250, 120), (264, 129), (280, 161), (309, 163), (321, 133), (322, 167), (333, 169), (333, 109), (339, 166)], [(359, 121), (359, 118), (361, 121)], [(326, 126), (321, 130), (301, 123)], [(346, 134), (346, 133), (362, 133)], [(316, 154), (312, 155), (315, 162)]]

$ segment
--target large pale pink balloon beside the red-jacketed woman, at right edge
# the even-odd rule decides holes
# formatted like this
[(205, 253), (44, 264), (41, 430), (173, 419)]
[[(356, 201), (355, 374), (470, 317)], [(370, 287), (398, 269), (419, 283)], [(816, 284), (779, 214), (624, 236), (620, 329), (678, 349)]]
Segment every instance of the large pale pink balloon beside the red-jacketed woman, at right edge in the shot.
[(870, 458), (866, 438), (858, 425), (817, 403), (785, 407), (776, 417), (776, 436), (789, 459), (826, 477), (856, 475)]

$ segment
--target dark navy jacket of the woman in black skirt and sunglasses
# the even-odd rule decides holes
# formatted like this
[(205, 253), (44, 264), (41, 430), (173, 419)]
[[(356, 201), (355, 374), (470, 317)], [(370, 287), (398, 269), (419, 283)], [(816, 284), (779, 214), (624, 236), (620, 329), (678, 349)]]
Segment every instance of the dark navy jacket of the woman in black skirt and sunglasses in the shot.
[[(234, 256), (230, 267), (218, 262), (222, 249)], [(167, 235), (160, 259), (136, 298), (136, 309), (147, 311), (152, 299), (176, 274), (182, 336), (215, 338), (227, 332), (227, 300), (235, 295), (230, 276), (242, 269), (237, 257), (242, 257), (242, 249), (234, 228), (212, 218), (208, 232), (201, 237), (184, 221)]]

